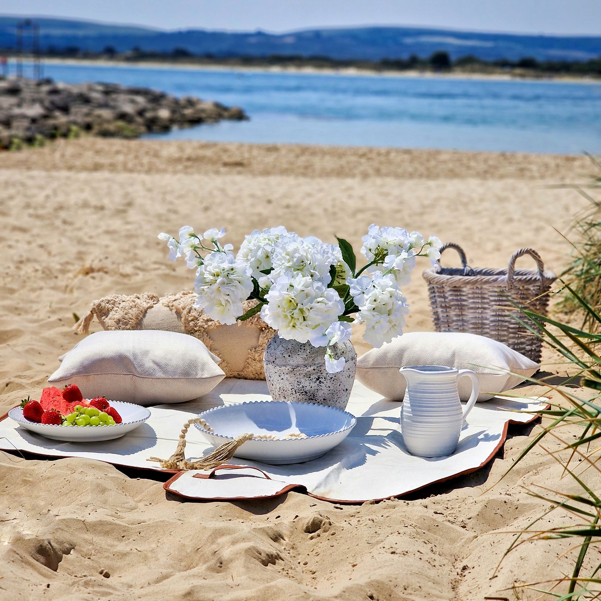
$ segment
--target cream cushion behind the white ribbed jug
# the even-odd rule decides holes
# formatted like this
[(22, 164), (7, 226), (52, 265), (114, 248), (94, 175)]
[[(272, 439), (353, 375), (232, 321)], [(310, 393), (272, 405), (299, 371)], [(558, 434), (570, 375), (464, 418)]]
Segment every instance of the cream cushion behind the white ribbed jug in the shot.
[[(517, 386), (540, 367), (516, 350), (485, 336), (410, 332), (357, 359), (355, 377), (383, 397), (402, 401), (407, 382), (398, 370), (416, 365), (446, 365), (475, 371), (480, 380), (479, 401)], [(462, 401), (468, 400), (471, 390), (471, 381), (467, 377), (460, 378)]]

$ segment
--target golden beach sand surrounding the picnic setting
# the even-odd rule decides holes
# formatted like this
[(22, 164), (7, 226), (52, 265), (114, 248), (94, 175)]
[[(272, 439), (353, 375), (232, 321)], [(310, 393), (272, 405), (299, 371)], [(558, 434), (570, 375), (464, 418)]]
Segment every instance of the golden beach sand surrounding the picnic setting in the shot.
[[(532, 246), (558, 272), (569, 246), (554, 228), (567, 231), (586, 203), (549, 186), (590, 171), (583, 157), (202, 142), (80, 139), (2, 153), (0, 413), (40, 394), (80, 339), (73, 313), (93, 299), (191, 287), (159, 231), (223, 226), (237, 246), (283, 224), (358, 251), (377, 222), (460, 242), (475, 266), (504, 266)], [(432, 329), (425, 267), (406, 288), (407, 331)], [(359, 354), (369, 348), (360, 334)], [(563, 543), (521, 546), (491, 579), (508, 532), (548, 507), (523, 487), (569, 486), (537, 450), (488, 490), (538, 430), (511, 426), (475, 474), (362, 507), (299, 493), (182, 503), (145, 472), (0, 453), (0, 599), (515, 599), (499, 591), (574, 559), (559, 557)], [(319, 537), (304, 531), (317, 514)]]

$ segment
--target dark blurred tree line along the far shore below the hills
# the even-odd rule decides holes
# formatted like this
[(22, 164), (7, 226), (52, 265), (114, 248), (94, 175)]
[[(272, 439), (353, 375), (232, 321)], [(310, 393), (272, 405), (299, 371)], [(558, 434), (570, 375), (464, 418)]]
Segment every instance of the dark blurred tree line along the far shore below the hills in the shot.
[[(2, 52), (2, 50), (0, 50)], [(7, 55), (14, 50), (4, 50)], [(376, 72), (386, 71), (430, 71), (430, 72), (472, 72), (472, 73), (501, 73), (513, 72), (516, 75), (575, 75), (575, 76), (601, 76), (601, 55), (588, 61), (538, 61), (531, 56), (525, 56), (517, 61), (506, 58), (494, 61), (485, 61), (474, 55), (461, 56), (451, 59), (448, 52), (439, 50), (427, 58), (410, 55), (408, 58), (383, 58), (380, 61), (363, 59), (338, 60), (329, 56), (305, 56), (272, 54), (269, 56), (239, 56), (239, 55), (214, 55), (204, 53), (195, 55), (186, 48), (175, 47), (170, 52), (151, 52), (139, 46), (133, 47), (129, 52), (118, 52), (114, 46), (106, 46), (102, 52), (82, 50), (78, 46), (57, 48), (50, 46), (44, 52), (49, 58), (85, 58), (85, 59), (112, 59), (120, 61), (176, 61), (192, 64), (216, 64), (227, 66), (289, 66), (289, 67), (314, 67), (323, 69), (344, 69), (355, 67)]]

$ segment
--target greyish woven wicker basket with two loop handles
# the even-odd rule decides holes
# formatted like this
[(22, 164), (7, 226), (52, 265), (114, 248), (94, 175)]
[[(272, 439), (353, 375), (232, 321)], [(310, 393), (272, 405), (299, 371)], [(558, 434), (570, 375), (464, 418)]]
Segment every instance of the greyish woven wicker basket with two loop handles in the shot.
[[(542, 341), (513, 317), (520, 313), (512, 304), (546, 315), (549, 295), (545, 293), (556, 276), (545, 271), (538, 252), (522, 248), (511, 256), (507, 269), (472, 269), (461, 246), (449, 242), (441, 252), (447, 248), (459, 253), (463, 267), (441, 267), (439, 261), (423, 273), (436, 331), (494, 338), (540, 363)], [(536, 261), (537, 271), (515, 269), (516, 259), (526, 254)]]

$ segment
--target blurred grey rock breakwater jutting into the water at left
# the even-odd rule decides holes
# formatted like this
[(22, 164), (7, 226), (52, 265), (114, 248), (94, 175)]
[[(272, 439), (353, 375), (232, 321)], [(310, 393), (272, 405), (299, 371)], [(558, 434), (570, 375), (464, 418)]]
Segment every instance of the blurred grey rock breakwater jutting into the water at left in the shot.
[(137, 138), (172, 127), (247, 119), (237, 106), (117, 84), (0, 80), (0, 147), (43, 144), (79, 133)]

